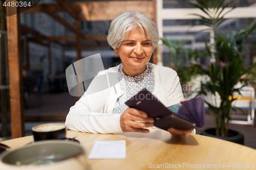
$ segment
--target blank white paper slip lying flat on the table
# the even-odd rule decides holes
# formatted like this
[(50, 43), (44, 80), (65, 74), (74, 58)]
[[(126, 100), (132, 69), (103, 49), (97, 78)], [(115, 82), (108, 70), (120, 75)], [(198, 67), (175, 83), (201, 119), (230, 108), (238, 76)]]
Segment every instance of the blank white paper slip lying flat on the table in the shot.
[(126, 141), (95, 141), (89, 159), (125, 159)]

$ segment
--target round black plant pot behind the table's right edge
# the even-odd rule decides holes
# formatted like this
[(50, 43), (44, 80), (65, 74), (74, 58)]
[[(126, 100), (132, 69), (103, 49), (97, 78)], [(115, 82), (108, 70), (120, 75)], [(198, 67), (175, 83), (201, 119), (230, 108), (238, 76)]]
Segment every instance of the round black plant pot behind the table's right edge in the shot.
[(244, 135), (242, 133), (239, 133), (237, 131), (233, 131), (230, 129), (228, 130), (227, 137), (216, 136), (215, 128), (206, 129), (201, 133), (201, 135), (214, 137), (222, 140), (227, 140), (227, 141), (244, 145)]

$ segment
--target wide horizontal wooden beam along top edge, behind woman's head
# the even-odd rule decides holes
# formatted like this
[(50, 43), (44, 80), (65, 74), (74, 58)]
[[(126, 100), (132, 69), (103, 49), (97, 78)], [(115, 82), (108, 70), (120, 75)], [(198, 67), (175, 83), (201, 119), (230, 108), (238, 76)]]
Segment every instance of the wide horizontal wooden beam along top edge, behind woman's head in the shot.
[(23, 13), (68, 11), (76, 19), (87, 21), (113, 20), (121, 13), (127, 11), (141, 12), (154, 19), (156, 13), (156, 1), (95, 1), (76, 3), (69, 3), (63, 0), (56, 1), (58, 4), (37, 4)]

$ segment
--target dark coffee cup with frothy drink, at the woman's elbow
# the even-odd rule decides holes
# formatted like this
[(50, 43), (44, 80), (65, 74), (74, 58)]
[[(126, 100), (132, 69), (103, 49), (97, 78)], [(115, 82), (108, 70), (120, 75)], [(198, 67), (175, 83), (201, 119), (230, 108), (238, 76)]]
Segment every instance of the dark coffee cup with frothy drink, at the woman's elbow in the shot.
[(64, 124), (42, 124), (33, 127), (32, 131), (34, 141), (66, 138), (66, 125)]

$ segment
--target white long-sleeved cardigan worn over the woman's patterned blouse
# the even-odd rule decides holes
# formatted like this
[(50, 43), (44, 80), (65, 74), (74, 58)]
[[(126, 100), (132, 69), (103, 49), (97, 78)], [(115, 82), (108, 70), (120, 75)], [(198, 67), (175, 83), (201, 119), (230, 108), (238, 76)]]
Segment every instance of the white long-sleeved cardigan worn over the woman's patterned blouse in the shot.
[[(166, 107), (178, 104), (183, 100), (183, 93), (176, 71), (171, 68), (152, 64), (155, 74), (155, 88), (153, 94)], [(100, 71), (90, 84), (88, 90), (70, 108), (66, 118), (68, 129), (90, 133), (120, 133), (120, 115), (112, 114), (115, 103), (123, 94), (119, 83), (104, 88), (102, 76), (109, 72), (118, 72), (119, 65)], [(116, 74), (117, 75), (117, 74)], [(117, 79), (117, 76), (116, 76)], [(108, 83), (111, 84), (111, 82)], [(114, 88), (115, 87), (115, 88)], [(103, 90), (95, 92), (93, 90)]]

